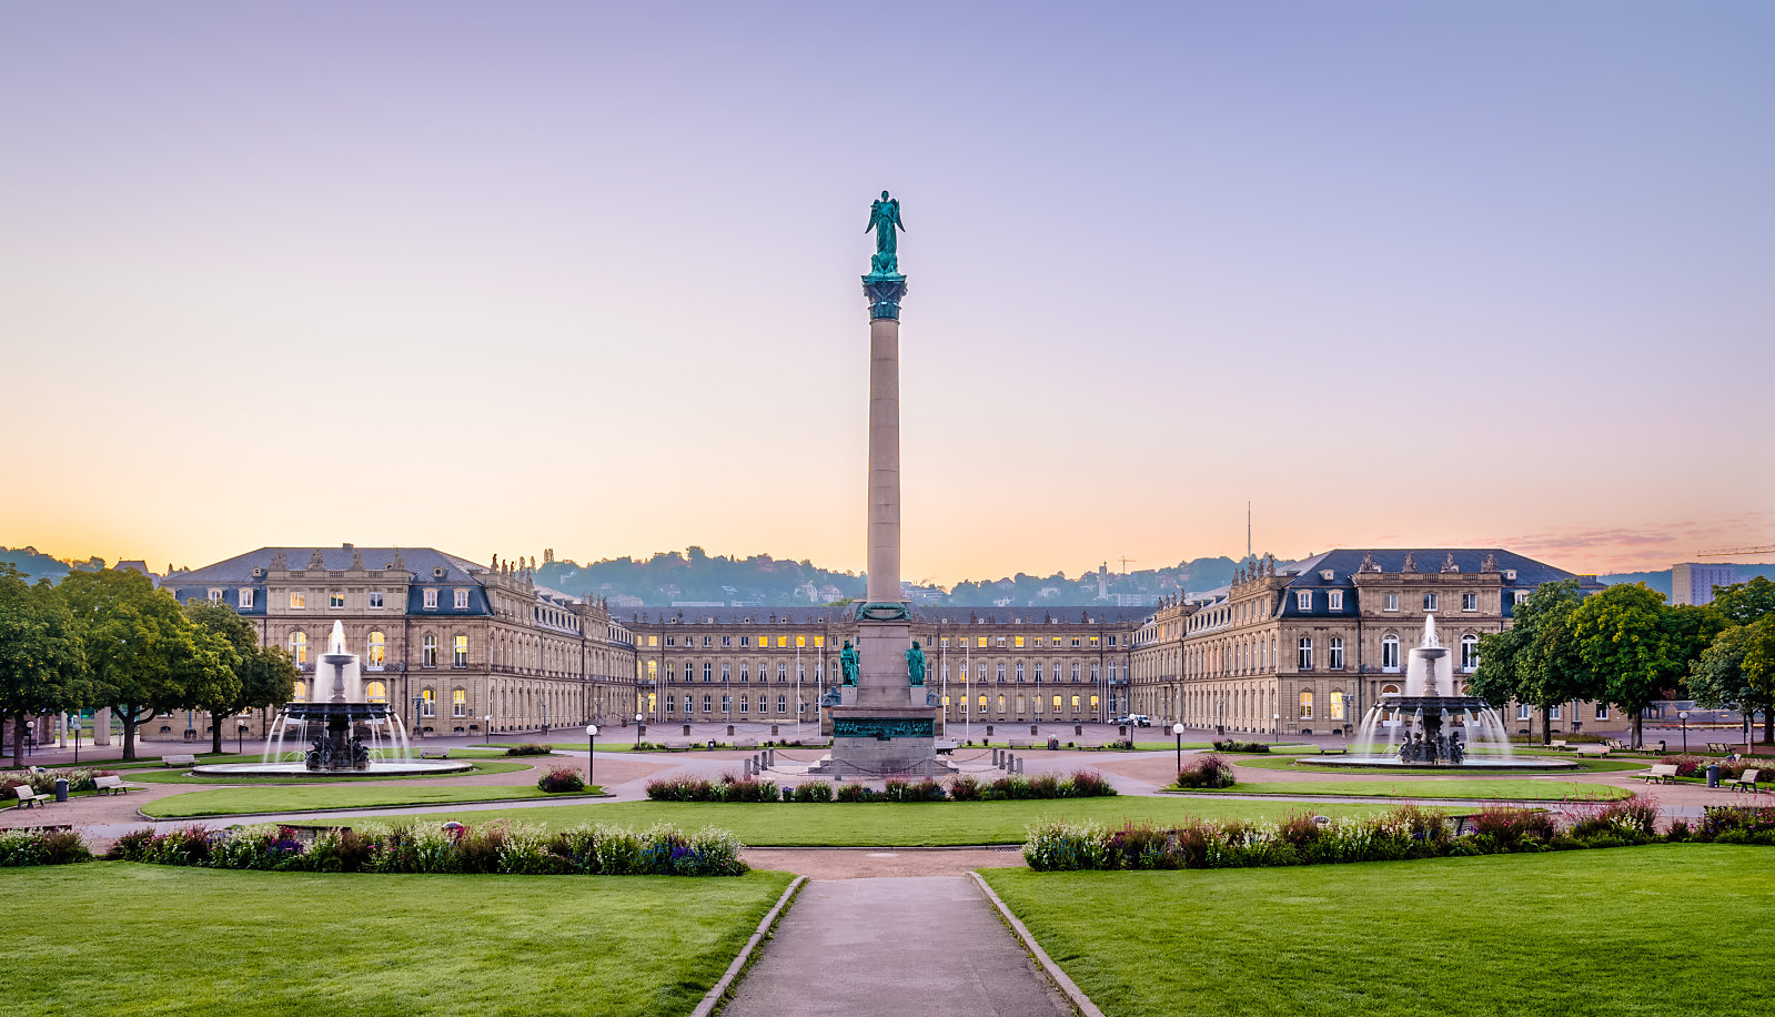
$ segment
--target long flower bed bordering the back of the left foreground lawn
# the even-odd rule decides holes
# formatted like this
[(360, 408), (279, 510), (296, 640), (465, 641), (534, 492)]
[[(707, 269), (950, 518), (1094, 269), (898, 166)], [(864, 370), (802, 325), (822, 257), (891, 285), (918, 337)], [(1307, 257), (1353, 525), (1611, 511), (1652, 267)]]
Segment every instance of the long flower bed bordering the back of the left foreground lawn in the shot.
[(300, 831), (275, 824), (215, 831), (190, 825), (156, 834), (135, 831), (108, 857), (147, 864), (273, 871), (367, 871), (460, 875), (740, 875), (744, 845), (728, 831), (687, 834), (673, 825), (643, 832), (580, 824), (564, 831), (492, 822), (419, 829), (362, 824)]

